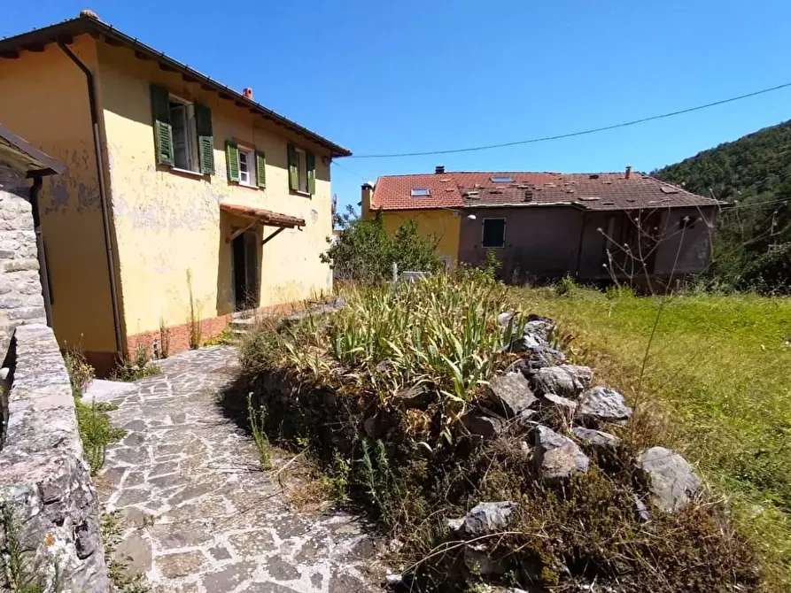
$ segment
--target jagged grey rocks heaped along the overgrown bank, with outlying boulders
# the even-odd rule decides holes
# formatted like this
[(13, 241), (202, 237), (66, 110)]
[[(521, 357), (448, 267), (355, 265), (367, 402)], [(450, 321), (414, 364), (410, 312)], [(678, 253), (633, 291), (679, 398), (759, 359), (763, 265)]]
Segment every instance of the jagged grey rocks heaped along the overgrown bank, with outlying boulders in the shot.
[[(501, 327), (508, 327), (511, 317), (503, 313), (498, 320)], [(623, 395), (594, 386), (593, 371), (587, 366), (566, 364), (563, 352), (551, 343), (553, 332), (552, 320), (531, 316), (523, 336), (506, 349), (524, 358), (491, 381), (483, 400), (462, 419), (473, 439), (523, 438), (522, 448), (531, 458), (536, 478), (549, 487), (587, 473), (594, 460), (616, 455), (621, 439), (608, 430), (632, 418)], [(634, 494), (634, 512), (643, 522), (650, 520), (652, 512), (646, 503), (658, 512), (678, 512), (701, 489), (686, 459), (663, 447), (642, 451), (634, 461), (634, 475), (642, 485)], [(482, 536), (507, 529), (516, 509), (512, 501), (485, 502), (448, 521), (454, 538), (469, 542), (463, 558), (470, 572), (499, 574), (503, 567), (490, 557)]]

